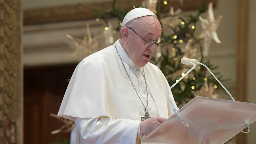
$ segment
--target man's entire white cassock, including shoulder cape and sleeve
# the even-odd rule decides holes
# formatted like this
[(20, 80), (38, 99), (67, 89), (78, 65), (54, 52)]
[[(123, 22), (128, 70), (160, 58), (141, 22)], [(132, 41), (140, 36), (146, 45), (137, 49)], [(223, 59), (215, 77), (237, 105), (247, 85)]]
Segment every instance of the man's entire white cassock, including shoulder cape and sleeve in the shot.
[[(116, 48), (146, 107), (147, 91), (142, 68), (132, 63), (118, 40)], [(58, 116), (74, 120), (77, 144), (141, 143), (140, 122), (145, 116), (144, 107), (116, 48), (113, 44), (86, 57), (70, 79)], [(144, 70), (149, 116), (169, 118), (173, 108), (165, 76), (151, 63), (146, 64)]]

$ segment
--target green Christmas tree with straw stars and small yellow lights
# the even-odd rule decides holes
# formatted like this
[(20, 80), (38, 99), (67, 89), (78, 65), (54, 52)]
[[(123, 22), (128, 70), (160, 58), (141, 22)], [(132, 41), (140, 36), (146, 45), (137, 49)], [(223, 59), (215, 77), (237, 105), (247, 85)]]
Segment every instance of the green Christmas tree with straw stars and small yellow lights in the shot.
[[(182, 4), (182, 0), (181, 4)], [(173, 3), (173, 0), (144, 0), (138, 7), (145, 7), (154, 12), (162, 26), (161, 39), (165, 42), (165, 45), (161, 48), (157, 48), (154, 57), (151, 59), (151, 63), (160, 68), (166, 77), (169, 85), (174, 84), (180, 79), (191, 66), (184, 65), (180, 62), (182, 57), (189, 59), (196, 59), (201, 63), (204, 63), (211, 69), (214, 75), (221, 81), (227, 81), (228, 79), (222, 79), (217, 70), (217, 66), (213, 66), (210, 61), (204, 61), (204, 57), (208, 55), (210, 44), (213, 41), (221, 43), (216, 30), (220, 24), (222, 16), (219, 16), (217, 20), (214, 19), (213, 7), (217, 5), (216, 0), (202, 0), (202, 5), (198, 8), (196, 15), (185, 15), (181, 17), (181, 9), (176, 9), (171, 6), (169, 13), (162, 13), (167, 4)], [(115, 6), (116, 0), (112, 3), (111, 9), (101, 9), (99, 7), (93, 7), (87, 4), (89, 12), (99, 15), (99, 19), (103, 19), (106, 22), (103, 35), (93, 37), (90, 34), (89, 23), (87, 23), (87, 36), (84, 39), (73, 38), (67, 35), (75, 44), (77, 50), (80, 50), (80, 54), (89, 55), (96, 52), (94, 48), (99, 44), (97, 39), (101, 36), (105, 37), (105, 43), (107, 46), (114, 43), (113, 34), (116, 34), (122, 26), (124, 16), (132, 9), (120, 9)], [(201, 17), (202, 14), (207, 13), (207, 17)], [(113, 28), (108, 18), (117, 18), (118, 27)], [(200, 35), (196, 36), (196, 23), (200, 22), (203, 31)], [(88, 52), (92, 50), (91, 52)], [(73, 56), (79, 53), (74, 52)], [(195, 96), (204, 96), (212, 98), (220, 98), (214, 91), (216, 89), (223, 90), (216, 79), (207, 73), (208, 70), (205, 67), (196, 66), (185, 78), (183, 78), (177, 85), (172, 88), (172, 93), (177, 106), (181, 108)]]

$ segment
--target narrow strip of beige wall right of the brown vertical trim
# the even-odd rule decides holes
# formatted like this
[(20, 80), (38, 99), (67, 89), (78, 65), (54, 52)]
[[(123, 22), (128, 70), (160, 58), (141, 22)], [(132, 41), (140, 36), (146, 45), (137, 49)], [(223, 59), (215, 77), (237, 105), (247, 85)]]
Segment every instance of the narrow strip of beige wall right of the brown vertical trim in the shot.
[[(255, 89), (256, 89), (256, 1), (250, 0), (249, 8), (249, 33), (248, 33), (248, 75), (247, 75), (247, 102), (256, 103)], [(256, 111), (256, 109), (255, 109)], [(256, 122), (250, 125), (248, 133), (248, 144), (256, 143)]]

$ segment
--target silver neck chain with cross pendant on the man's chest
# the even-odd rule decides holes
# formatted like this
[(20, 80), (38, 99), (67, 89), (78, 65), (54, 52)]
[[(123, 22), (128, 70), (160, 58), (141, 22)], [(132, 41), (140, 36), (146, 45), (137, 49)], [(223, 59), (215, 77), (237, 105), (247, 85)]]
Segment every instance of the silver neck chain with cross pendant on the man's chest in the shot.
[[(115, 43), (115, 47), (116, 47), (116, 43)], [(116, 52), (117, 52), (117, 54), (118, 54), (118, 56), (119, 56), (119, 58), (120, 58), (120, 60), (121, 60), (121, 62), (122, 62), (122, 64), (123, 64), (123, 66), (124, 66), (123, 60), (121, 59), (120, 54), (119, 54), (119, 52), (117, 51), (117, 48), (116, 48)], [(146, 82), (146, 77), (145, 77), (144, 68), (142, 68), (142, 69), (143, 69), (143, 76), (144, 76), (144, 80), (145, 80), (145, 84), (146, 84), (146, 91), (147, 91), (147, 99), (146, 99), (146, 101), (147, 101), (147, 106), (146, 106), (146, 107), (145, 107), (145, 105), (143, 104), (142, 100), (140, 99), (140, 96), (139, 96), (138, 92), (136, 91), (136, 89), (135, 89), (135, 87), (134, 87), (134, 85), (133, 85), (133, 83), (132, 83), (132, 80), (131, 80), (130, 76), (128, 75), (128, 72), (127, 72), (126, 68), (124, 67), (124, 70), (125, 70), (125, 72), (126, 72), (128, 78), (129, 78), (129, 80), (130, 80), (130, 82), (131, 82), (131, 84), (132, 84), (132, 86), (133, 86), (133, 88), (134, 88), (136, 94), (138, 95), (138, 97), (139, 97), (139, 99), (140, 99), (140, 101), (141, 101), (143, 107), (145, 108), (145, 116), (144, 116), (144, 117), (141, 117), (141, 120), (144, 121), (144, 120), (149, 119), (150, 117), (149, 117), (149, 115), (148, 115), (148, 87), (147, 87), (147, 82)]]

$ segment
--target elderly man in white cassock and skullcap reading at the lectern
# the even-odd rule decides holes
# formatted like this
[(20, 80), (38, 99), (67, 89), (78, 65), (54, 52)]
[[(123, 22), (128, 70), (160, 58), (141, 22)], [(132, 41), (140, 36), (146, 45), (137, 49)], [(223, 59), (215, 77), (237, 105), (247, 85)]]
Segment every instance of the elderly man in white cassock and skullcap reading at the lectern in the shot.
[(135, 144), (173, 114), (169, 84), (151, 64), (161, 25), (145, 8), (131, 10), (115, 44), (76, 67), (58, 116), (74, 120), (79, 144)]

